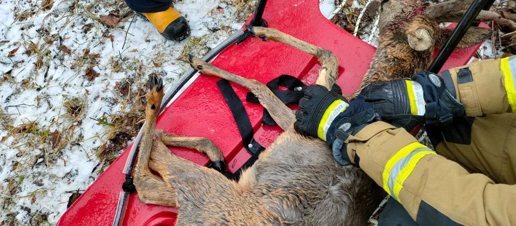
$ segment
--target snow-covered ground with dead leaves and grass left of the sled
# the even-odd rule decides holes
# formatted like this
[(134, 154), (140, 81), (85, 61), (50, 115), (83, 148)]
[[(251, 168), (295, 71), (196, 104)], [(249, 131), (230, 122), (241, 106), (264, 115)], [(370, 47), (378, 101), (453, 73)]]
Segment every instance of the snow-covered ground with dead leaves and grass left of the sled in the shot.
[(0, 224), (55, 224), (107, 167), (103, 144), (132, 135), (120, 118), (141, 116), (148, 75), (173, 83), (184, 50), (201, 56), (239, 29), (245, 2), (176, 2), (192, 33), (173, 42), (120, 0), (0, 1)]

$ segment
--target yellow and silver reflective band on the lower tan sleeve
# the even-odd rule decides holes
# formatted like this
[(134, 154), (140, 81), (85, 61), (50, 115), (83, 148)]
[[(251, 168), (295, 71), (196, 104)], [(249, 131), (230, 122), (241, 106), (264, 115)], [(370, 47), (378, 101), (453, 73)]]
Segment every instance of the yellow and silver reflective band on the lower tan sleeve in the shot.
[(418, 142), (410, 143), (396, 152), (383, 169), (383, 189), (399, 202), (399, 192), (403, 188), (403, 183), (419, 160), (429, 154), (435, 155), (436, 152)]

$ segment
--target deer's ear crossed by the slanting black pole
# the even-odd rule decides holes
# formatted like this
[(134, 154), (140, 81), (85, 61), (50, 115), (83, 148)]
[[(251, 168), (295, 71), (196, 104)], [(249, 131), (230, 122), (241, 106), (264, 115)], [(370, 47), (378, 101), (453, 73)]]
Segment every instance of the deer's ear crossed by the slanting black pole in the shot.
[[(444, 45), (451, 36), (451, 33), (453, 33), (452, 29), (441, 29), (441, 34), (438, 36), (436, 46)], [(466, 34), (464, 34), (464, 37), (460, 40), (457, 48), (462, 49), (486, 41), (491, 37), (492, 33), (493, 31), (490, 28), (470, 27), (467, 29)]]

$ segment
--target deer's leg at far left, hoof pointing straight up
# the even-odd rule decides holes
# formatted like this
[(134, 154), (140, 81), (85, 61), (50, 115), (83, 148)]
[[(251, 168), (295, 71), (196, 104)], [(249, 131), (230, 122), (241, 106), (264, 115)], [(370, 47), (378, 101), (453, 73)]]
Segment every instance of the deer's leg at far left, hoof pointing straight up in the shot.
[(163, 81), (156, 76), (152, 76), (149, 79), (149, 87), (150, 92), (147, 96), (147, 107), (145, 109), (146, 122), (143, 127), (143, 137), (134, 171), (134, 185), (138, 191), (138, 198), (143, 203), (177, 206), (175, 190), (149, 169), (154, 126), (163, 98)]

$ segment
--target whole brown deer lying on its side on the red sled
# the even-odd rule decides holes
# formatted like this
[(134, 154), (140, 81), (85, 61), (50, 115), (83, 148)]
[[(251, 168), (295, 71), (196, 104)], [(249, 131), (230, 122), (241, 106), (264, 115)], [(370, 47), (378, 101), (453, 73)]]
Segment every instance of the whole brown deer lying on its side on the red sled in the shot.
[[(463, 13), (460, 10), (465, 10), (468, 2), (450, 1), (422, 11), (409, 1), (384, 3), (379, 47), (361, 88), (378, 80), (402, 78), (426, 69), (434, 45), (442, 44), (450, 34), (440, 29), (438, 23), (460, 19)], [(488, 11), (479, 15), (479, 19), (495, 17), (498, 17), (496, 13)], [(321, 62), (316, 84), (330, 89), (336, 82), (338, 62), (330, 51), (273, 28), (248, 26), (247, 29), (253, 37), (291, 45), (316, 56)], [(476, 44), (489, 35), (489, 29), (472, 27), (459, 47)], [(134, 179), (143, 203), (179, 207), (178, 225), (359, 225), (367, 222), (384, 193), (363, 171), (338, 165), (324, 141), (296, 133), (294, 111), (265, 85), (193, 56), (189, 60), (191, 66), (204, 75), (224, 78), (248, 88), (284, 132), (242, 173), (238, 182), (228, 180), (214, 169), (173, 155), (167, 148), (195, 149), (207, 154), (216, 165), (223, 166), (223, 156), (212, 141), (154, 129), (163, 98), (163, 83), (160, 78), (151, 77), (146, 124)]]

